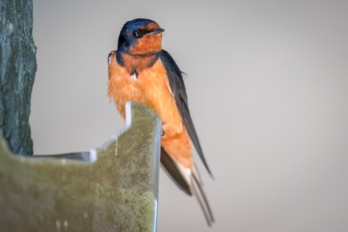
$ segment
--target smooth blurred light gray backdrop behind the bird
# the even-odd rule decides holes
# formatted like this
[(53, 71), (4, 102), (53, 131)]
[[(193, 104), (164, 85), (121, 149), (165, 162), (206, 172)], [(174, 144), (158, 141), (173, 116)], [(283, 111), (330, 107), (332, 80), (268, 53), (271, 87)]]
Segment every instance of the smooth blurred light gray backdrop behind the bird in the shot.
[(347, 1), (34, 0), (35, 154), (124, 126), (106, 97), (122, 25), (150, 18), (185, 78), (216, 223), (160, 173), (158, 231), (348, 231)]

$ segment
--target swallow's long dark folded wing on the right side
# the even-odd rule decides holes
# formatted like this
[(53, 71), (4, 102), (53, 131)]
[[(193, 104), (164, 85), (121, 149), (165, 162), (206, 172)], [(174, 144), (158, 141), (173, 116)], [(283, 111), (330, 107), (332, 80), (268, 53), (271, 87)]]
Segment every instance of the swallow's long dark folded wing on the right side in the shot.
[(203, 152), (200, 147), (198, 137), (195, 131), (195, 127), (193, 127), (190, 111), (187, 106), (186, 89), (185, 89), (185, 85), (182, 79), (180, 69), (175, 64), (175, 61), (173, 60), (172, 56), (169, 55), (169, 53), (167, 53), (165, 50), (160, 51), (159, 58), (162, 61), (162, 64), (167, 72), (169, 85), (172, 88), (176, 106), (177, 106), (177, 109), (179, 109), (182, 121), (184, 122), (184, 125), (186, 126), (186, 129), (191, 137), (193, 145), (196, 147), (199, 157), (202, 159), (209, 174), (212, 175), (204, 159)]

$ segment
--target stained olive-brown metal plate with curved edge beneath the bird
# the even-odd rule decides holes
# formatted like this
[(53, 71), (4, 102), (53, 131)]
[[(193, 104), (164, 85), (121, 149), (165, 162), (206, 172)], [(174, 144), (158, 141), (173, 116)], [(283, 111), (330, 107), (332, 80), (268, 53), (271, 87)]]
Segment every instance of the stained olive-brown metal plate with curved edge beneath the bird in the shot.
[(156, 231), (161, 121), (137, 102), (126, 113), (90, 162), (19, 157), (1, 136), (1, 231)]

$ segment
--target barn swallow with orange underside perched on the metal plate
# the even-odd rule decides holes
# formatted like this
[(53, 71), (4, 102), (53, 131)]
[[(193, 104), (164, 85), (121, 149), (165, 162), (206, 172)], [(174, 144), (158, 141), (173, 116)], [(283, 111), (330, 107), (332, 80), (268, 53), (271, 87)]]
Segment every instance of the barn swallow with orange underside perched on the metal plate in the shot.
[(161, 167), (180, 189), (195, 196), (211, 226), (214, 218), (192, 157), (191, 144), (209, 174), (211, 171), (193, 127), (182, 73), (172, 56), (161, 47), (162, 32), (150, 19), (138, 18), (124, 24), (117, 50), (111, 51), (108, 57), (108, 96), (124, 119), (127, 101), (140, 102), (159, 115), (163, 124)]

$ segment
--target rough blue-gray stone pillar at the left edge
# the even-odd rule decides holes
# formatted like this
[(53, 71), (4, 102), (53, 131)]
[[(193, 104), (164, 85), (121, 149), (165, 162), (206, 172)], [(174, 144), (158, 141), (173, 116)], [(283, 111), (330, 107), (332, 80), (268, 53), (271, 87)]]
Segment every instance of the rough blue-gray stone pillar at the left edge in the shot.
[(30, 97), (36, 72), (33, 2), (0, 1), (0, 130), (10, 149), (33, 154)]

